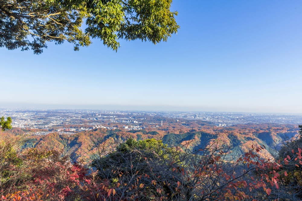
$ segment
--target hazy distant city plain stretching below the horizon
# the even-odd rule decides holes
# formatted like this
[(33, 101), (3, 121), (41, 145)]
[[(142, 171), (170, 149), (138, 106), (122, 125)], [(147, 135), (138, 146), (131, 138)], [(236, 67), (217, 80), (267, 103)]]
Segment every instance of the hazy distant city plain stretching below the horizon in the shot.
[(203, 121), (219, 127), (249, 123), (302, 124), (302, 115), (236, 112), (0, 109), (0, 115), (10, 116), (13, 127), (43, 129), (37, 131), (37, 135), (50, 132), (70, 134), (98, 128), (127, 130), (157, 128), (162, 126), (162, 122), (168, 121), (167, 119), (179, 124)]

